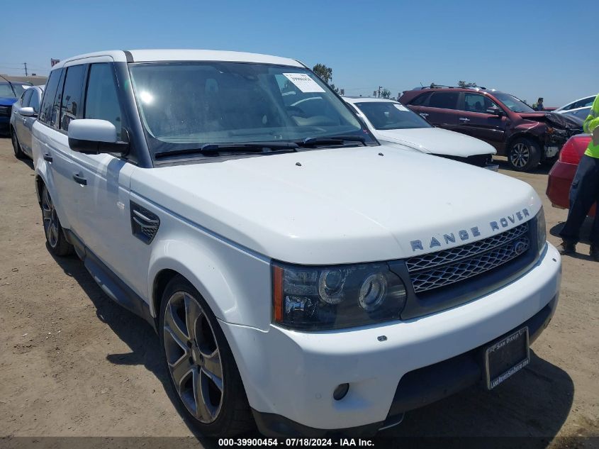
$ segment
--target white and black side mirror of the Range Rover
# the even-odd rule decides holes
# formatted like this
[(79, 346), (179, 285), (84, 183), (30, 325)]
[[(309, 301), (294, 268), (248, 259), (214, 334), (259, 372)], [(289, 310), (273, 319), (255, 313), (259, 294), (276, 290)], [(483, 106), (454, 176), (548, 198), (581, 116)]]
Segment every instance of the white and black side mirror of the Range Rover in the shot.
[(69, 147), (73, 151), (88, 155), (99, 153), (121, 153), (129, 150), (129, 143), (116, 138), (116, 127), (107, 120), (79, 118), (69, 122)]

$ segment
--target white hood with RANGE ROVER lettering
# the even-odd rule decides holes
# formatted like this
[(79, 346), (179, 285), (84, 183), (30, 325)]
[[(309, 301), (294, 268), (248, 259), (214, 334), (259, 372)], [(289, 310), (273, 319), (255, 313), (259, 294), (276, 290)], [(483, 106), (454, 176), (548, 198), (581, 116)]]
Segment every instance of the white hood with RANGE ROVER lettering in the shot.
[[(198, 232), (303, 264), (452, 248), (500, 232), (491, 222), (505, 223), (501, 231), (517, 226), (541, 205), (517, 179), (385, 145), (136, 169), (130, 185)], [(444, 243), (449, 233), (464, 240)], [(442, 245), (431, 249), (432, 237)], [(422, 250), (413, 250), (415, 240)]]

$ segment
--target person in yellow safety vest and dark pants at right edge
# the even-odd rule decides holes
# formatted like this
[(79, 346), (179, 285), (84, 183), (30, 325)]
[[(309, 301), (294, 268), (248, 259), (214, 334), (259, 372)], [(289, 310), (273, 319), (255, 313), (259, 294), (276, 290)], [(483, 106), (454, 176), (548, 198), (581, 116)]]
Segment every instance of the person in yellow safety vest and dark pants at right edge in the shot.
[(559, 252), (564, 255), (576, 253), (581, 226), (589, 209), (596, 203), (597, 213), (590, 230), (590, 257), (599, 262), (599, 95), (595, 96), (583, 128), (585, 133), (591, 134), (591, 139), (570, 188), (570, 211), (559, 233), (563, 240)]

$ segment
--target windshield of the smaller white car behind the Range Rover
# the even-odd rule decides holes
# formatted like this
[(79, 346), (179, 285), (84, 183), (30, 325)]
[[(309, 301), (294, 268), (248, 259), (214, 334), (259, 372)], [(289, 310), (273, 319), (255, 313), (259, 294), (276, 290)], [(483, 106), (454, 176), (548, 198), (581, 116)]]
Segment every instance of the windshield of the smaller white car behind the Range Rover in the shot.
[(400, 103), (364, 101), (356, 106), (376, 129), (432, 128), (424, 118)]

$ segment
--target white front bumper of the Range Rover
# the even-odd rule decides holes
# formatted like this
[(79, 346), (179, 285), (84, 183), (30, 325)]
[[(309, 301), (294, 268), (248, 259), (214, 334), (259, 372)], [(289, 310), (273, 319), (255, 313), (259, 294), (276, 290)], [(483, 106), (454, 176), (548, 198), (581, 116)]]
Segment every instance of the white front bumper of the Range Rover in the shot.
[[(476, 362), (454, 370), (481, 345), (533, 318), (536, 338), (555, 311), (560, 280), (559, 253), (548, 244), (539, 261), (505, 287), (409, 321), (320, 333), (221, 326), (262, 433), (316, 436), (342, 429), (364, 435), (443, 397), (443, 388), (413, 382), (448, 370), (452, 374), (442, 378), (452, 394), (481, 379)], [(332, 392), (342, 383), (349, 392), (335, 401)]]

